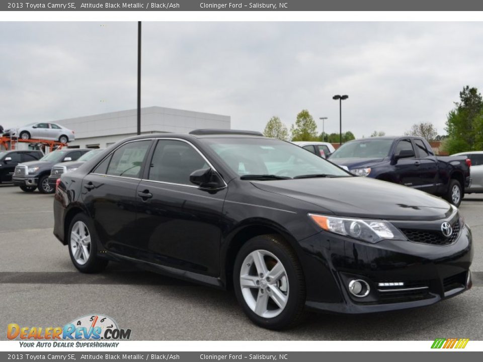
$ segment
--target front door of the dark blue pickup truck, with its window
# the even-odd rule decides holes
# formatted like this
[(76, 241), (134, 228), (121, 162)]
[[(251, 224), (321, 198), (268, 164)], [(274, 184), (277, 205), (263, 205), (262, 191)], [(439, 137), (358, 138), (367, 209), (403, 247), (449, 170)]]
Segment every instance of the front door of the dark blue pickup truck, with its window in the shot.
[[(399, 140), (394, 148), (394, 155), (398, 155), (401, 150), (413, 150), (410, 139)], [(420, 162), (415, 156), (399, 158), (394, 164), (395, 182), (401, 185), (418, 188), (421, 185)]]

